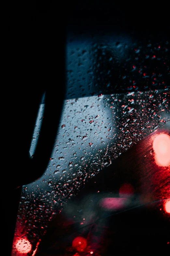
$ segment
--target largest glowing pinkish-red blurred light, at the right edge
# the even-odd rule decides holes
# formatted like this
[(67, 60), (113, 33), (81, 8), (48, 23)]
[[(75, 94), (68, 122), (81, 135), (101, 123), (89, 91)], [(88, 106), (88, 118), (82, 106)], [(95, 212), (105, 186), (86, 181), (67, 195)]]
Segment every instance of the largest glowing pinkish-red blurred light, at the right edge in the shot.
[(170, 136), (162, 133), (153, 141), (155, 151), (155, 162), (158, 166), (170, 165)]

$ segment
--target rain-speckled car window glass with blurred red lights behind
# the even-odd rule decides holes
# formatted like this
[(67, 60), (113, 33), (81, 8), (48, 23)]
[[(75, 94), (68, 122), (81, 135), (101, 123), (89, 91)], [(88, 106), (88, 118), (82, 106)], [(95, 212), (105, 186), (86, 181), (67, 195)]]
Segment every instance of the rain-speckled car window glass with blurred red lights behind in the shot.
[[(170, 135), (168, 50), (164, 39), (68, 36), (53, 154), (44, 175), (23, 186), (12, 255), (128, 255), (152, 243), (170, 246), (170, 162), (159, 164), (153, 148), (158, 135)], [(168, 140), (155, 148), (167, 154)]]

